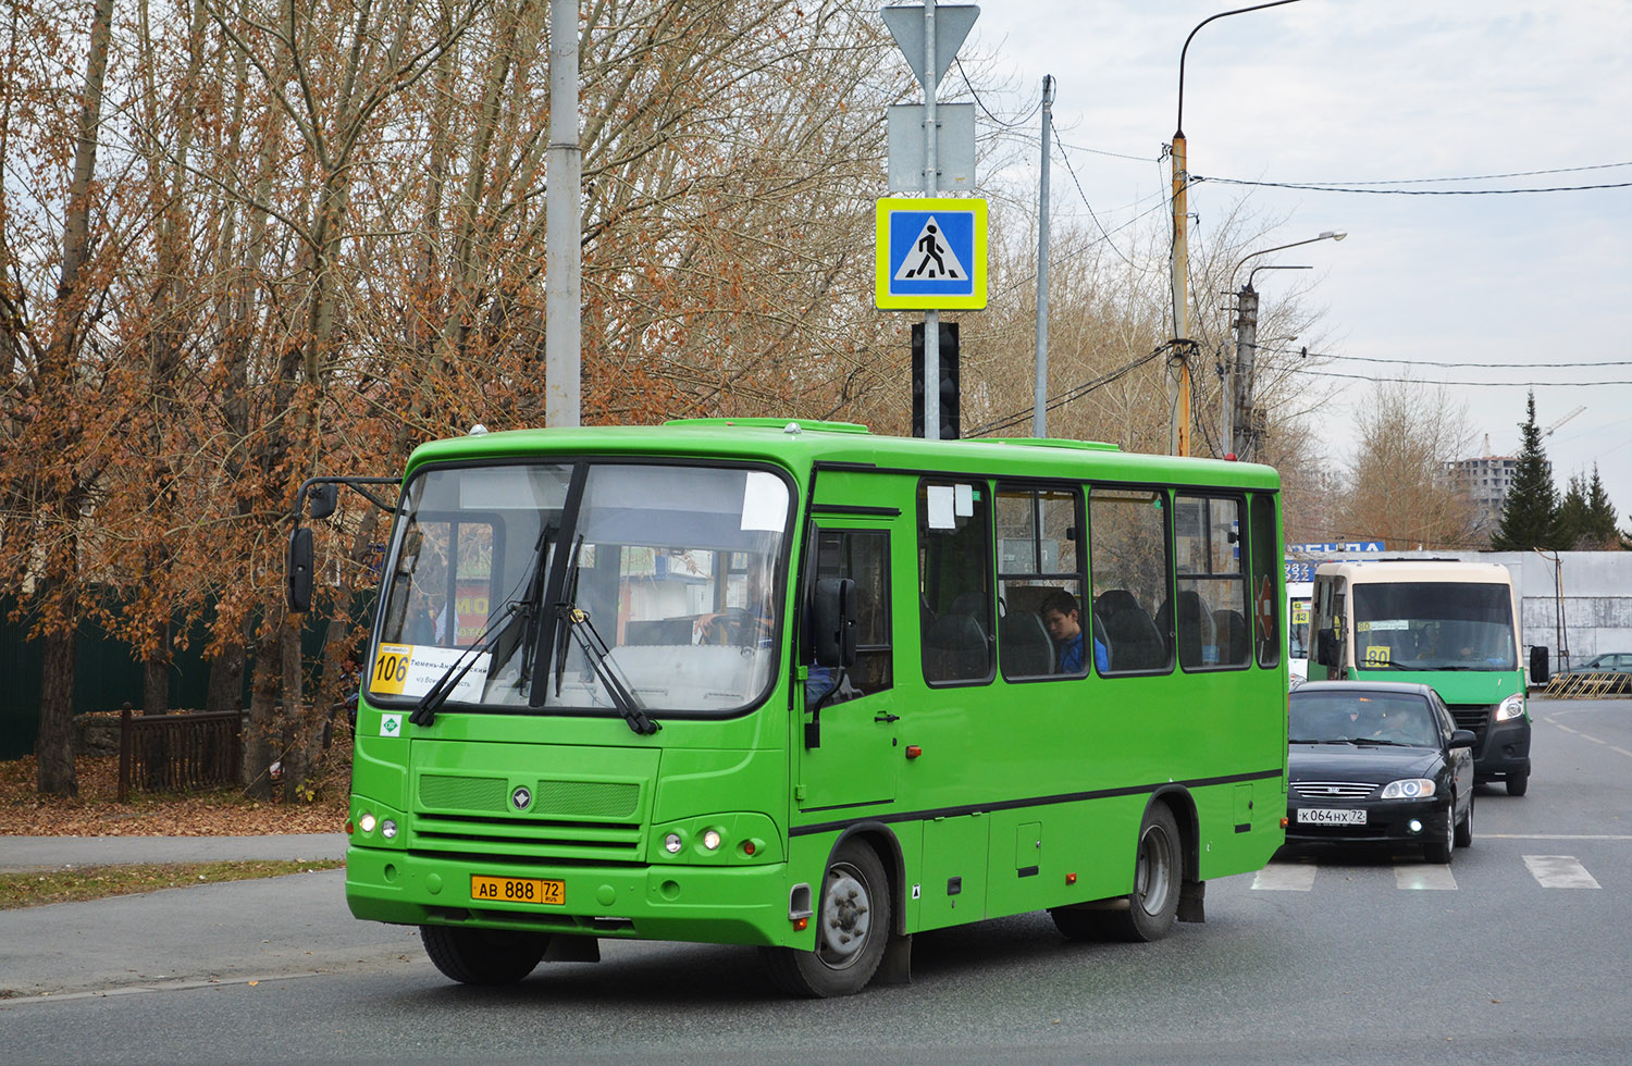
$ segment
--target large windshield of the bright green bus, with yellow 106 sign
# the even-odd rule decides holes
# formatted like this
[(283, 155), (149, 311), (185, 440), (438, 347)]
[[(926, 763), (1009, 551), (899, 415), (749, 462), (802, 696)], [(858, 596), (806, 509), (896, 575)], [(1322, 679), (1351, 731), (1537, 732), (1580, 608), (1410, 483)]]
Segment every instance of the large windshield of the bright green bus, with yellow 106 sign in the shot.
[(441, 682), (465, 710), (746, 708), (777, 660), (788, 503), (747, 467), (424, 470), (401, 498), (370, 702)]

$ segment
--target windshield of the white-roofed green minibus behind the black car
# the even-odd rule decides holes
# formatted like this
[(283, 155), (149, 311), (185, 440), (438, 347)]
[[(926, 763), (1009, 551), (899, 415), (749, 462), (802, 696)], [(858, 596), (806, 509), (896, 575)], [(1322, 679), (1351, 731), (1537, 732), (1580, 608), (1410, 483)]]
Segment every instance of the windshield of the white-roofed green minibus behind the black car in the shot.
[(1351, 596), (1356, 666), (1518, 669), (1506, 584), (1356, 581)]

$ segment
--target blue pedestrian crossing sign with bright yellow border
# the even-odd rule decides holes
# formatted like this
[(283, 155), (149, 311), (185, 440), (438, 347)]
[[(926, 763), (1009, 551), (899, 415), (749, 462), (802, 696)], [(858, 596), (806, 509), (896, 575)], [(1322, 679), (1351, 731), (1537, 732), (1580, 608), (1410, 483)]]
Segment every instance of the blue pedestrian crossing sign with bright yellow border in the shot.
[(881, 310), (986, 307), (986, 201), (886, 196), (876, 209), (873, 304)]

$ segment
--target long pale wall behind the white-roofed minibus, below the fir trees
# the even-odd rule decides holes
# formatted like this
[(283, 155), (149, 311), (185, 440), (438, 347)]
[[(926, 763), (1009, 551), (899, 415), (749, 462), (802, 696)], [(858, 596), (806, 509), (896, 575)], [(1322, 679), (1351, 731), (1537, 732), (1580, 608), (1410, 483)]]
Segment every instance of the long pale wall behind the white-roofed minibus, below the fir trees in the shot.
[[(1519, 594), (1519, 642), (1547, 648), (1554, 671), (1599, 651), (1632, 651), (1632, 552), (1382, 552), (1324, 555), (1327, 560), (1456, 558), (1501, 563)], [(1562, 586), (1562, 593), (1560, 593)], [(1560, 617), (1562, 614), (1562, 617)], [(1526, 660), (1528, 661), (1528, 660)]]

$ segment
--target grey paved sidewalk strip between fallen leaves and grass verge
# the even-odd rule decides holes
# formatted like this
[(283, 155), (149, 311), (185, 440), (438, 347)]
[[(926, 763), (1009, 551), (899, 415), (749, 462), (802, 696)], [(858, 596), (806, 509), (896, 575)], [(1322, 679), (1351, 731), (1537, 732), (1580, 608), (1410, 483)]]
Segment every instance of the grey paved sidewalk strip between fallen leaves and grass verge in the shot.
[(344, 833), (292, 833), (287, 836), (0, 836), (0, 873), (131, 862), (344, 857)]

